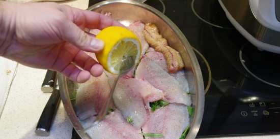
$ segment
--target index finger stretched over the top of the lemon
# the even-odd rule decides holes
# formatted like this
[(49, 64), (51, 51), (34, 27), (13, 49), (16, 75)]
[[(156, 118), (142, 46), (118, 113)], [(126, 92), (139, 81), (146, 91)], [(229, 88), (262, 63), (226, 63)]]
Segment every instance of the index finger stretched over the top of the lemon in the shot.
[(103, 29), (107, 26), (123, 26), (118, 21), (100, 13), (62, 5), (61, 11), (76, 25), (90, 29)]

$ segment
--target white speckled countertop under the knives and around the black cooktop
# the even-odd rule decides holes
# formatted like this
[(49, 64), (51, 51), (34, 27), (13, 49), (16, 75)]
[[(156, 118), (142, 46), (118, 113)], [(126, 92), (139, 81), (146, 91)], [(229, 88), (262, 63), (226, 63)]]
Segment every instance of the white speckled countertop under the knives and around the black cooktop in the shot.
[[(64, 2), (70, 6), (86, 9), (88, 0)], [(0, 118), (0, 138), (5, 139), (70, 139), (72, 126), (67, 119), (64, 107), (60, 103), (57, 115), (48, 137), (35, 135), (37, 121), (50, 96), (40, 90), (46, 70), (24, 65), (18, 71), (12, 84), (6, 106)], [(221, 137), (220, 139), (275, 139), (280, 135)], [(213, 138), (214, 139), (214, 138)]]

